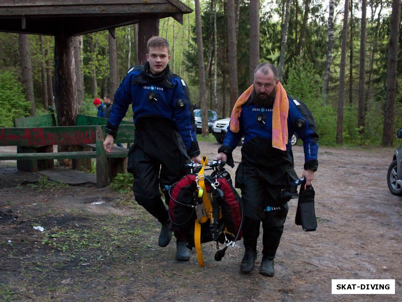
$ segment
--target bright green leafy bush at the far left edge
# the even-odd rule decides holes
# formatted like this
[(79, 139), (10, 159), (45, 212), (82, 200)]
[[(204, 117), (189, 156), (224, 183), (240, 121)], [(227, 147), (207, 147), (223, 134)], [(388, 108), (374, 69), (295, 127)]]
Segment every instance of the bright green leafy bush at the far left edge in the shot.
[(13, 127), (17, 117), (29, 116), (30, 104), (13, 71), (0, 71), (0, 127)]

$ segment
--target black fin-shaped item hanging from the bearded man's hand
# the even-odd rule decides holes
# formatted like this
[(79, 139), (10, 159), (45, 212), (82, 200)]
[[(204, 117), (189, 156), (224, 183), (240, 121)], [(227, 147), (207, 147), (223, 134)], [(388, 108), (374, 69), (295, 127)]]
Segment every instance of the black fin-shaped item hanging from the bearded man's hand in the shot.
[(316, 210), (314, 208), (315, 191), (313, 186), (302, 185), (299, 191), (296, 216), (294, 223), (302, 225), (306, 232), (317, 230)]

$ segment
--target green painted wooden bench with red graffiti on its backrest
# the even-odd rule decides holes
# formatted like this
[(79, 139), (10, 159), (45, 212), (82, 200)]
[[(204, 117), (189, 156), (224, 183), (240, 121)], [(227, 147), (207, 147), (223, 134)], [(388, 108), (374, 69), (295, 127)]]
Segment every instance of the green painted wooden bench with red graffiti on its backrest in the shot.
[[(114, 146), (112, 153), (106, 153), (103, 148), (103, 141), (106, 135), (105, 125), (107, 119), (92, 118), (77, 116), (77, 122), (81, 124), (77, 126), (0, 128), (0, 146), (17, 146), (18, 149), (18, 153), (1, 153), (0, 160), (17, 160), (17, 163), (30, 163), (37, 160), (53, 162), (55, 159), (89, 159), (90, 161), (90, 159), (95, 158), (96, 185), (98, 187), (109, 185), (117, 173), (127, 172), (129, 149)], [(97, 122), (98, 124), (85, 125), (84, 121), (87, 123)], [(24, 122), (25, 126), (32, 124), (27, 123), (26, 120)], [(134, 123), (123, 122), (119, 127), (115, 142), (132, 142), (134, 140), (134, 131)], [(53, 145), (72, 145), (74, 150), (71, 152), (53, 152)], [(43, 146), (51, 146), (51, 150), (47, 149), (45, 152), (38, 152)], [(37, 171), (35, 165), (28, 165), (23, 168), (24, 171), (29, 169)]]

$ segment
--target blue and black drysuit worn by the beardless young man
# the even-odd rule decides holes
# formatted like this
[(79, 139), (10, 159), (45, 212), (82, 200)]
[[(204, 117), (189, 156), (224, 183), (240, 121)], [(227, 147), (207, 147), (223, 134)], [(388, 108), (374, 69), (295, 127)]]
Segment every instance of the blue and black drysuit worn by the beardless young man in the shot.
[[(114, 98), (107, 132), (116, 135), (129, 106), (136, 126), (127, 170), (133, 173), (135, 199), (162, 224), (169, 216), (164, 190), (185, 175), (184, 165), (199, 155), (194, 114), (186, 83), (169, 70), (160, 74), (145, 66), (131, 68)], [(166, 203), (168, 194), (165, 193)]]

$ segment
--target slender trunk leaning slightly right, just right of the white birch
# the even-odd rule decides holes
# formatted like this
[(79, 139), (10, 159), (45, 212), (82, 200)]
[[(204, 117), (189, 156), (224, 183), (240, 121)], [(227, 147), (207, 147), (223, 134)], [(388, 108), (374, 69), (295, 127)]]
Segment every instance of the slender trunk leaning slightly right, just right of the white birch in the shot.
[(336, 125), (336, 143), (343, 143), (343, 104), (345, 95), (345, 62), (346, 62), (346, 39), (348, 36), (348, 15), (349, 15), (349, 0), (345, 0), (345, 11), (343, 17), (342, 29), (342, 46), (341, 46), (341, 64), (339, 74), (339, 92), (338, 92), (338, 118)]

